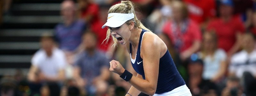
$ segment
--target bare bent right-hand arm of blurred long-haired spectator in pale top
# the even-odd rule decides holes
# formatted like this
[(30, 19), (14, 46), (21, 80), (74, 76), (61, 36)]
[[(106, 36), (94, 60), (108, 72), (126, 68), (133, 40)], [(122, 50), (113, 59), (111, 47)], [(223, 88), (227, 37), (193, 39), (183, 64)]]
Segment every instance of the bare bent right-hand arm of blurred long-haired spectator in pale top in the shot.
[(217, 82), (218, 80), (220, 80), (220, 78), (225, 75), (226, 69), (227, 69), (227, 62), (226, 62), (226, 61), (221, 61), (221, 62), (220, 62), (220, 70), (219, 70), (218, 73), (212, 78), (211, 81)]

